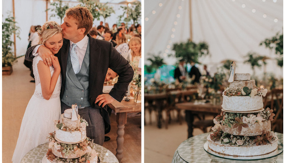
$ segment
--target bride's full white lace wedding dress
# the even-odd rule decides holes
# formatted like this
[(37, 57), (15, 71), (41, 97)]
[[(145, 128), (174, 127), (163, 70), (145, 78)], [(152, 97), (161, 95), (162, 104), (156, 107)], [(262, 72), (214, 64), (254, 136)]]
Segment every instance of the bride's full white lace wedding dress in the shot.
[[(47, 137), (54, 131), (54, 120), (60, 118), (60, 75), (56, 82), (54, 92), (49, 100), (42, 96), (40, 77), (38, 72), (38, 62), (42, 60), (40, 56), (33, 59), (33, 71), (35, 75), (35, 92), (29, 101), (22, 120), (17, 145), (13, 154), (13, 163), (20, 163), (22, 158), (33, 148), (48, 143)], [(54, 67), (50, 67), (51, 75)]]

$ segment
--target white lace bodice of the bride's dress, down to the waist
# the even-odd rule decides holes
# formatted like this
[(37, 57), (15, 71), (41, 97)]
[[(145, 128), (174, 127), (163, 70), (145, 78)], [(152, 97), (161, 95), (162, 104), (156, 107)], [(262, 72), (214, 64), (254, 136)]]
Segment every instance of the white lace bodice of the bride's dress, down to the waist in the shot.
[[(35, 56), (35, 58), (33, 59), (33, 73), (35, 76), (35, 92), (34, 92), (34, 95), (38, 98), (44, 98), (42, 96), (42, 88), (41, 88), (41, 84), (40, 84), (40, 76), (39, 76), (39, 71), (38, 71), (39, 61), (42, 61), (42, 58), (40, 56)], [(54, 74), (54, 67), (53, 66), (49, 67), (49, 70), (50, 70), (51, 76), (52, 76)], [(51, 95), (51, 99), (59, 97), (60, 87), (61, 87), (61, 76), (59, 75), (57, 82), (56, 82), (56, 86), (54, 88), (54, 92)]]

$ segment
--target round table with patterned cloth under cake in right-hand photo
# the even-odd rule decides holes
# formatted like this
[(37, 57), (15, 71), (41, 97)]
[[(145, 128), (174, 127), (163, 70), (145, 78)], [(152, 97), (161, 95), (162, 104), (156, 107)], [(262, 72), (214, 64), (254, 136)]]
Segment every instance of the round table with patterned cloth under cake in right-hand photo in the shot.
[[(206, 142), (207, 136), (210, 134), (204, 133), (194, 137), (190, 137), (183, 141), (179, 147), (175, 150), (174, 156), (172, 158), (172, 163), (213, 163), (213, 162), (222, 162), (222, 163), (281, 163), (283, 162), (283, 153), (276, 155), (274, 157), (261, 159), (261, 160), (231, 160), (222, 157), (217, 157), (206, 152), (203, 148), (204, 143)], [(279, 142), (278, 148), (283, 149), (283, 134), (275, 132)]]

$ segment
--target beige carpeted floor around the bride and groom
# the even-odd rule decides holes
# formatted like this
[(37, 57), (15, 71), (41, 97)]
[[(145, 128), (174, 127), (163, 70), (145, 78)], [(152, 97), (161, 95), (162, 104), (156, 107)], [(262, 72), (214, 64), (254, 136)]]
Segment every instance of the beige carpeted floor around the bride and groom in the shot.
[[(35, 90), (31, 83), (29, 68), (26, 68), (24, 56), (13, 64), (12, 75), (2, 75), (2, 162), (12, 162), (19, 130), (26, 106)], [(124, 157), (122, 162), (141, 162), (141, 116), (128, 117), (124, 135)], [(111, 115), (111, 131), (106, 134), (111, 140), (103, 146), (116, 154), (117, 123)]]

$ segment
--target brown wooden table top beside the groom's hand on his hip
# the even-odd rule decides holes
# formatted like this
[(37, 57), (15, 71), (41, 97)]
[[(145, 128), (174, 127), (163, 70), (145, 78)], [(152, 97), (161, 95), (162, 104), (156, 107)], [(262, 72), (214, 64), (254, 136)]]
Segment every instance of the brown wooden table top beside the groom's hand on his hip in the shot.
[(136, 103), (133, 99), (129, 102), (122, 100), (121, 102), (114, 101), (111, 104), (107, 104), (115, 113), (123, 113), (123, 112), (141, 112), (142, 103)]

